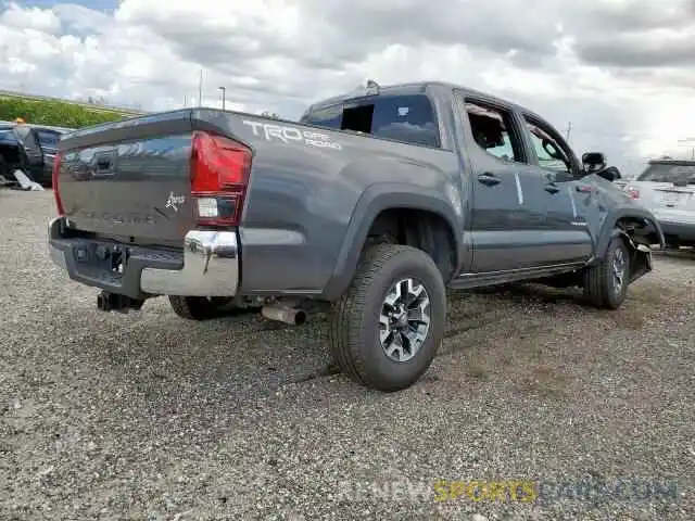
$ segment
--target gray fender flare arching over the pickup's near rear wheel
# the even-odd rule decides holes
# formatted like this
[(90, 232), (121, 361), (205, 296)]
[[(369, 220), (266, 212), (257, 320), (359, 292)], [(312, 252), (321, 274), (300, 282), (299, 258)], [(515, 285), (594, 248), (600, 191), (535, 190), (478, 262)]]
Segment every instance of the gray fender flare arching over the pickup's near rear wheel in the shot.
[(339, 298), (350, 287), (359, 262), (367, 233), (377, 216), (389, 208), (412, 208), (432, 212), (442, 217), (451, 227), (456, 246), (456, 270), (464, 258), (460, 240), (463, 219), (453, 205), (442, 198), (441, 191), (404, 183), (377, 183), (368, 187), (355, 204), (348, 230), (336, 260), (331, 277), (324, 289), (324, 297)]

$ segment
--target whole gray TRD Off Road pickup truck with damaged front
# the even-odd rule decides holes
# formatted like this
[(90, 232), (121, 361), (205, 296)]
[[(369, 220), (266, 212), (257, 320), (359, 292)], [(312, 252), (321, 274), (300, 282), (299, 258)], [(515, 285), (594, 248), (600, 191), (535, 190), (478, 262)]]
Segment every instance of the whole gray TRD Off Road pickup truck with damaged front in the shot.
[(395, 391), (429, 368), (447, 287), (536, 281), (621, 305), (664, 234), (605, 163), (441, 82), (370, 84), (299, 123), (186, 109), (61, 140), (49, 250), (103, 310), (167, 295), (186, 318), (230, 305), (299, 323), (301, 303), (328, 303), (340, 369)]

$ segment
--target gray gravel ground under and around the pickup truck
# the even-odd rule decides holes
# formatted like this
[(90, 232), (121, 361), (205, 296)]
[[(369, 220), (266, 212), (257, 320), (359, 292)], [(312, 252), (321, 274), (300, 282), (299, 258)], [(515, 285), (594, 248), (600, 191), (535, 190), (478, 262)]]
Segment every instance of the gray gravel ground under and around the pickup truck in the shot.
[[(331, 370), (321, 316), (97, 312), (48, 259), (52, 214), (50, 192), (0, 191), (2, 520), (695, 519), (693, 254), (655, 256), (616, 313), (454, 293), (430, 371), (387, 395)], [(658, 486), (616, 493), (637, 479)], [(585, 480), (607, 487), (558, 492)]]

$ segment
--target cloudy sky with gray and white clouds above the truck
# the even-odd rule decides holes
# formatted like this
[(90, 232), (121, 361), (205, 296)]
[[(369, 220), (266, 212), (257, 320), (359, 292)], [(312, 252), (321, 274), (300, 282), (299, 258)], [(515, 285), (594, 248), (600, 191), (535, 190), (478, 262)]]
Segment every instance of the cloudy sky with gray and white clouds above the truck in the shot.
[[(298, 117), (441, 79), (545, 115), (630, 174), (695, 138), (695, 0), (0, 0), (0, 89)], [(695, 144), (695, 142), (693, 143)]]

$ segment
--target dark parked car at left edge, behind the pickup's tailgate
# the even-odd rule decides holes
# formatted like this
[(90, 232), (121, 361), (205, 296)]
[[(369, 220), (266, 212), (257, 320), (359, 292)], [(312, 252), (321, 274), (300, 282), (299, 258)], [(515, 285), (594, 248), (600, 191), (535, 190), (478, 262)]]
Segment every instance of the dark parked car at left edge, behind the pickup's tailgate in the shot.
[(12, 173), (18, 168), (33, 181), (50, 187), (58, 142), (70, 130), (0, 122), (0, 176), (14, 180)]

